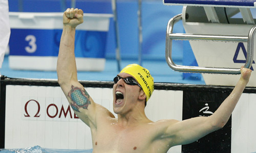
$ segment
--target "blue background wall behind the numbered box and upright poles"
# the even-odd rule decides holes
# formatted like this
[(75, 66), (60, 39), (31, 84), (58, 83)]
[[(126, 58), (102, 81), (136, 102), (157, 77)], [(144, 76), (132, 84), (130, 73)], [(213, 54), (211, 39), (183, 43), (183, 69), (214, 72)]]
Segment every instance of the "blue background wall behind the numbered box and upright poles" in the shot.
[[(22, 3), (20, 3), (22, 2)], [(62, 4), (60, 0), (11, 0), (10, 12), (63, 12), (70, 8), (71, 1)], [(84, 13), (110, 13), (111, 0), (76, 0), (76, 7)], [(122, 59), (138, 57), (138, 2), (117, 0), (119, 20), (120, 49)], [(142, 1), (142, 58), (165, 60), (165, 32), (170, 18), (182, 12), (181, 6), (164, 6), (162, 1)], [(182, 23), (176, 25), (174, 32), (183, 33)], [(110, 22), (106, 58), (115, 58), (115, 33), (113, 19)], [(173, 58), (182, 61), (182, 41), (174, 41)]]

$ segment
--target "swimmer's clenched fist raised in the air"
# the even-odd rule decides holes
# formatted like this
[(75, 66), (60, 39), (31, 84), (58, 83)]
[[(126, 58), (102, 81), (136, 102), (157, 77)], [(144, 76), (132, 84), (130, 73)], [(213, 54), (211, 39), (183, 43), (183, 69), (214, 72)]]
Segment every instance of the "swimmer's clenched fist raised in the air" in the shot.
[(76, 28), (83, 22), (83, 11), (81, 9), (67, 9), (63, 14), (63, 25), (70, 25)]

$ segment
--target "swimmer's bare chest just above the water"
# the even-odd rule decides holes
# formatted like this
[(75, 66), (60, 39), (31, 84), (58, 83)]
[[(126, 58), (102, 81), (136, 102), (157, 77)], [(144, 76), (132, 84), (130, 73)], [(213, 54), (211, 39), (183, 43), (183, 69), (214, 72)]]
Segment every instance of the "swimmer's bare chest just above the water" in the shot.
[(153, 139), (152, 129), (143, 126), (131, 128), (108, 126), (93, 135), (93, 152), (154, 152), (154, 149), (159, 148)]

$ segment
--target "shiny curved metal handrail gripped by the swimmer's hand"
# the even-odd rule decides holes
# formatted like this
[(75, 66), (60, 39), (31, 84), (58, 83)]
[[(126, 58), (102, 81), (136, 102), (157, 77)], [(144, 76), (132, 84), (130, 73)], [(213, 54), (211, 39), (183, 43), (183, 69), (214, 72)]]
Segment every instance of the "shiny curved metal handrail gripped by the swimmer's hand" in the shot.
[(203, 67), (203, 66), (183, 66), (176, 65), (172, 59), (172, 41), (175, 40), (210, 40), (210, 41), (233, 41), (247, 42), (247, 58), (244, 67), (249, 68), (253, 62), (253, 40), (256, 30), (254, 25), (248, 36), (228, 36), (228, 35), (203, 35), (203, 34), (174, 34), (174, 24), (182, 19), (182, 14), (171, 18), (167, 24), (165, 59), (170, 68), (180, 72), (191, 73), (222, 73), (222, 74), (240, 74), (240, 68), (224, 68), (224, 67)]

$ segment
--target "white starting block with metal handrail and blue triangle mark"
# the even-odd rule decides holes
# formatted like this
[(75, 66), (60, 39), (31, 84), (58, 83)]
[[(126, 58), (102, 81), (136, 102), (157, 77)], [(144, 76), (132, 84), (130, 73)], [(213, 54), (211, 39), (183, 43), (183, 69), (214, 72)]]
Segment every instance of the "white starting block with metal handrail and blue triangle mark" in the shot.
[[(202, 73), (206, 85), (234, 86), (240, 75), (225, 74), (240, 74), (244, 65), (253, 70), (248, 86), (256, 86), (253, 59), (256, 20), (251, 13), (256, 8), (255, 0), (164, 0), (163, 3), (184, 6), (182, 14), (167, 24), (166, 62), (172, 69)], [(185, 34), (173, 33), (174, 24), (180, 20)], [(172, 60), (173, 40), (189, 40), (199, 66), (176, 65)]]

